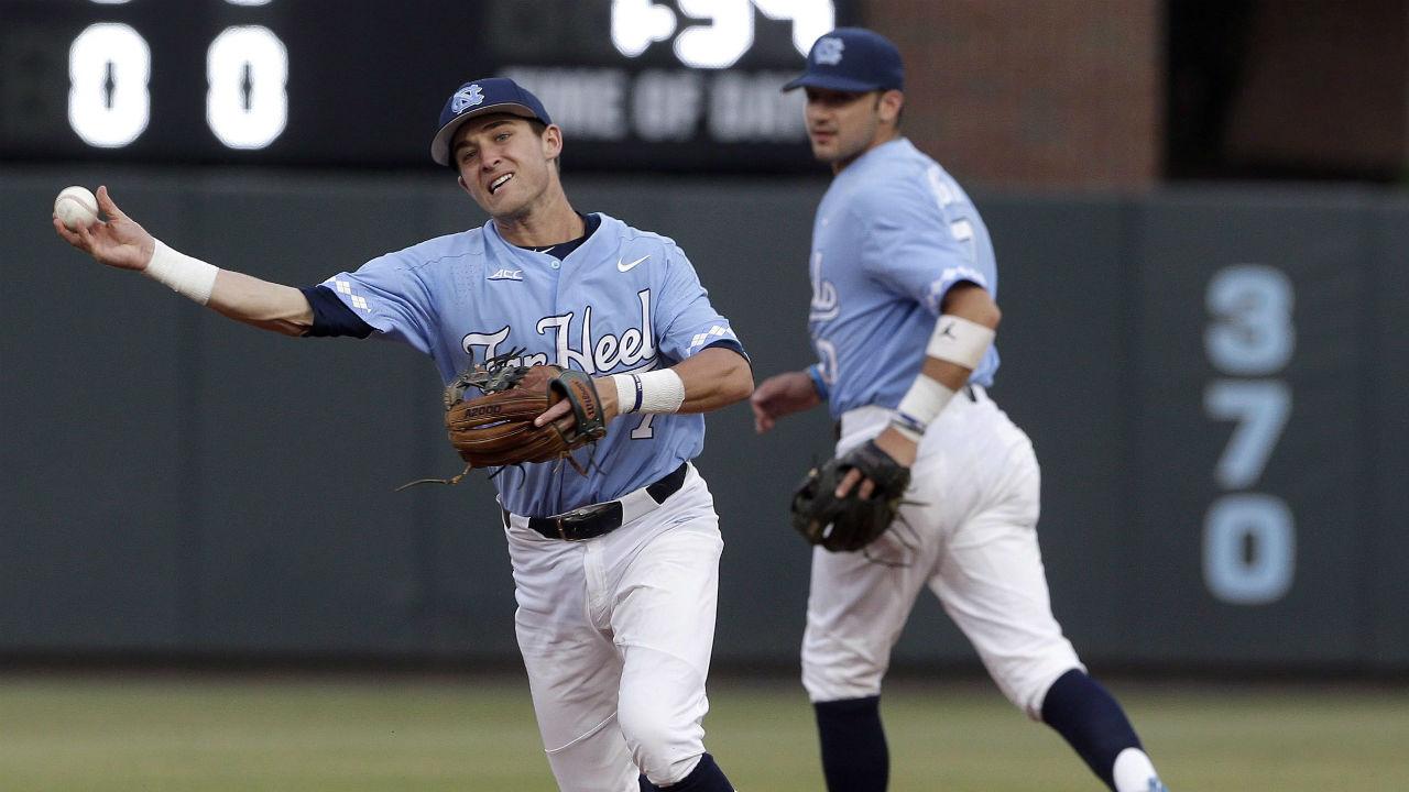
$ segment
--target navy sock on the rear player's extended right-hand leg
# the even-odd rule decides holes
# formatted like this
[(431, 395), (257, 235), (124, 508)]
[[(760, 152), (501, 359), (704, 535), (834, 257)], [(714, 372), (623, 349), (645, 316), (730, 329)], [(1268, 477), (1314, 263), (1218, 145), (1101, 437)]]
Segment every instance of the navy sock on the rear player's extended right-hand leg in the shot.
[(1062, 674), (1047, 691), (1043, 722), (1055, 729), (1112, 789), (1116, 788), (1112, 774), (1120, 751), (1144, 750), (1115, 696), (1076, 668)]

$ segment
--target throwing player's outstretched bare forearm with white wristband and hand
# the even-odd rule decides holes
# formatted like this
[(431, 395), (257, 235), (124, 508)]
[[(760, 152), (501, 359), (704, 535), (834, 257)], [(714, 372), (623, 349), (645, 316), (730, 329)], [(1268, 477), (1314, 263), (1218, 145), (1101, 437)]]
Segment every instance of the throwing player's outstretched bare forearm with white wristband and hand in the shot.
[[(117, 207), (111, 196), (107, 194), (106, 186), (97, 189), (97, 203), (107, 216), (107, 221), (94, 223), (86, 228), (80, 227), (77, 231), (69, 231), (55, 218), (54, 230), (66, 242), (87, 252), (100, 264), (117, 269), (132, 269), (152, 276), (151, 266), (158, 249), (156, 238)], [(166, 254), (180, 256), (180, 254), (169, 248)], [(194, 272), (197, 275), (201, 273), (199, 266), (204, 265), (204, 262), (194, 262), (194, 259), (186, 259), (186, 256), (180, 258), (190, 264), (178, 264), (178, 268), (194, 266), (197, 268)], [(197, 283), (196, 295), (173, 286), (168, 279), (156, 279), (220, 314), (262, 330), (272, 330), (285, 335), (303, 335), (313, 327), (313, 306), (309, 304), (309, 299), (299, 289), (282, 283), (271, 283), (230, 269), (214, 269), (214, 279), (209, 280), (210, 271), (204, 272), (203, 278), (207, 280)], [(182, 271), (178, 269), (178, 278), (180, 275)], [(209, 295), (206, 292), (207, 285)]]

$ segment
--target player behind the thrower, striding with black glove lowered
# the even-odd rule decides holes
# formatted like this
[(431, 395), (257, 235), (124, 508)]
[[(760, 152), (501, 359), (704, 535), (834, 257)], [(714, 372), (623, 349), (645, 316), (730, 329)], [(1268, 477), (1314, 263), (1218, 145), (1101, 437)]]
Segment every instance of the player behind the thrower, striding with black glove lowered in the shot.
[[(802, 665), (828, 789), (886, 788), (881, 681), (929, 586), (1009, 700), (1061, 733), (1107, 786), (1164, 791), (1120, 705), (1053, 617), (1037, 459), (988, 395), (999, 362), (993, 248), (960, 185), (900, 135), (899, 52), (872, 31), (836, 30), (785, 90), (797, 87), (813, 155), (834, 173), (810, 259), (819, 362), (759, 385), (755, 427), (826, 400), (838, 457), (874, 440), (912, 474), (879, 540), (813, 551)], [(854, 486), (878, 488), (851, 469), (838, 496)]]

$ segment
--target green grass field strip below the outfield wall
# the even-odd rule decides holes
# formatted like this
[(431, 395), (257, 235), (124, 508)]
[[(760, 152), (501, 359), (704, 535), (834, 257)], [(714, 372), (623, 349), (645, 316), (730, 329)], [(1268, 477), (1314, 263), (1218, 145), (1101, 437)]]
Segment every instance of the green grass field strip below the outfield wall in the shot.
[[(1174, 792), (1409, 789), (1409, 691), (1115, 682)], [(792, 681), (710, 689), (743, 792), (820, 791)], [(1102, 786), (985, 683), (892, 685), (895, 792)], [(552, 791), (517, 678), (0, 676), (3, 792)]]

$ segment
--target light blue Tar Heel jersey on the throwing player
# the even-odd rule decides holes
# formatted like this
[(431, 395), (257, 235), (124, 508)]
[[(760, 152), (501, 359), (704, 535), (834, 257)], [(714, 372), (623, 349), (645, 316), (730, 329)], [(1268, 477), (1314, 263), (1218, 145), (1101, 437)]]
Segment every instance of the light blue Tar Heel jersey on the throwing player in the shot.
[[(379, 335), (428, 354), (447, 383), (475, 362), (516, 348), (592, 376), (665, 368), (712, 344), (743, 351), (674, 241), (600, 216), (564, 261), (511, 245), (493, 221), (334, 275), (333, 289)], [(473, 392), (471, 392), (473, 395)], [(504, 509), (561, 514), (640, 489), (704, 447), (700, 414), (630, 414), (565, 461), (504, 468), (493, 481)]]

